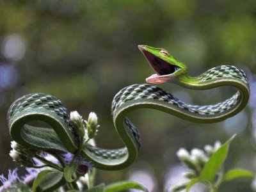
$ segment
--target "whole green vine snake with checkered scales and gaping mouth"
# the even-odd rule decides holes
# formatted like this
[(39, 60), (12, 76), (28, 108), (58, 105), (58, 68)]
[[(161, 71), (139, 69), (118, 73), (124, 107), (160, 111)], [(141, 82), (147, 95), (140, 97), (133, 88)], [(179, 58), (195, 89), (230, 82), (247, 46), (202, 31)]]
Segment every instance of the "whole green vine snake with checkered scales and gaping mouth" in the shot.
[[(165, 49), (139, 45), (140, 51), (156, 74), (146, 79), (150, 84), (132, 84), (116, 93), (111, 113), (116, 131), (125, 147), (107, 150), (86, 144), (81, 151), (85, 157), (102, 170), (120, 170), (132, 164), (140, 148), (140, 133), (126, 117), (139, 108), (152, 108), (198, 123), (214, 123), (234, 116), (241, 111), (250, 97), (248, 78), (243, 70), (221, 65), (211, 68), (197, 77), (188, 76), (184, 63), (175, 60)], [(186, 104), (153, 84), (177, 83), (189, 89), (206, 90), (218, 86), (234, 86), (238, 92), (230, 99), (213, 105)], [(40, 120), (52, 129), (28, 125)], [(10, 134), (24, 147), (43, 151), (76, 152), (76, 130), (70, 122), (67, 109), (60, 100), (44, 93), (20, 97), (8, 111)]]

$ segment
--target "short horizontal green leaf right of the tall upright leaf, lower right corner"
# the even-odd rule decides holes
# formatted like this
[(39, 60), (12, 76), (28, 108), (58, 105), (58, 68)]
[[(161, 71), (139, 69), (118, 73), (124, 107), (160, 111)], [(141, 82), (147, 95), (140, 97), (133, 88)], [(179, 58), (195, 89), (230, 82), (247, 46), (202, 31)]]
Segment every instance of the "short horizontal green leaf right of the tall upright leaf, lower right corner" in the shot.
[(250, 172), (248, 170), (240, 169), (240, 168), (235, 168), (232, 170), (229, 170), (224, 176), (223, 180), (228, 181), (228, 180), (233, 180), (237, 179), (239, 177), (254, 177), (253, 172)]

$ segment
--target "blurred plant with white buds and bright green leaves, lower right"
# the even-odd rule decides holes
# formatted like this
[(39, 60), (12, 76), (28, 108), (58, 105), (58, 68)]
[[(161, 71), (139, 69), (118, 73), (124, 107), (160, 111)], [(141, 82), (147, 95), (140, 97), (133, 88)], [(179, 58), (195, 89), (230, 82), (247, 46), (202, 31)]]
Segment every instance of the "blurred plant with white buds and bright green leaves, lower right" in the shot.
[(254, 174), (249, 170), (234, 168), (225, 172), (223, 168), (229, 145), (234, 138), (235, 135), (223, 145), (220, 141), (216, 141), (213, 147), (205, 145), (204, 150), (193, 148), (191, 154), (185, 148), (180, 148), (177, 156), (188, 167), (188, 172), (184, 173), (184, 176), (189, 180), (171, 186), (169, 191), (180, 191), (182, 189), (189, 191), (193, 185), (199, 182), (209, 188), (211, 192), (216, 192), (223, 182), (241, 177), (252, 179)]

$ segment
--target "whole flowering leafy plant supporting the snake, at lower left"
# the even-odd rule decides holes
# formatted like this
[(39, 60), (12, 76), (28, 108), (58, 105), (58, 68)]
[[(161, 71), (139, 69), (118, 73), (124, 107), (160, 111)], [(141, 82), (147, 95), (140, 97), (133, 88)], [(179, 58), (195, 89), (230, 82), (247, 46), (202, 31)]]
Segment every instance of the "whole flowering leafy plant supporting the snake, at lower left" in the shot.
[(70, 113), (70, 120), (81, 138), (76, 154), (35, 151), (12, 141), (10, 156), (17, 163), (26, 166), (28, 173), (19, 177), (16, 168), (9, 170), (8, 178), (0, 175), (3, 183), (0, 191), (148, 191), (141, 184), (132, 181), (93, 186), (96, 169), (92, 163), (79, 156), (79, 153), (86, 143), (95, 145), (93, 138), (99, 129), (97, 115), (92, 112), (85, 121), (77, 111), (73, 111)]

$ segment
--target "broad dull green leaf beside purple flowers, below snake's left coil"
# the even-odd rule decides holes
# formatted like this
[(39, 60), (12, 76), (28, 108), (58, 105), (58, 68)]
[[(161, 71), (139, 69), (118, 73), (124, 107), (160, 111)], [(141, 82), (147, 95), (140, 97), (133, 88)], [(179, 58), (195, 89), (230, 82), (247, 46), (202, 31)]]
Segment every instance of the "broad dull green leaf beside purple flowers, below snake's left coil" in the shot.
[(32, 191), (53, 191), (65, 183), (63, 173), (56, 170), (44, 170), (38, 173), (33, 182)]

